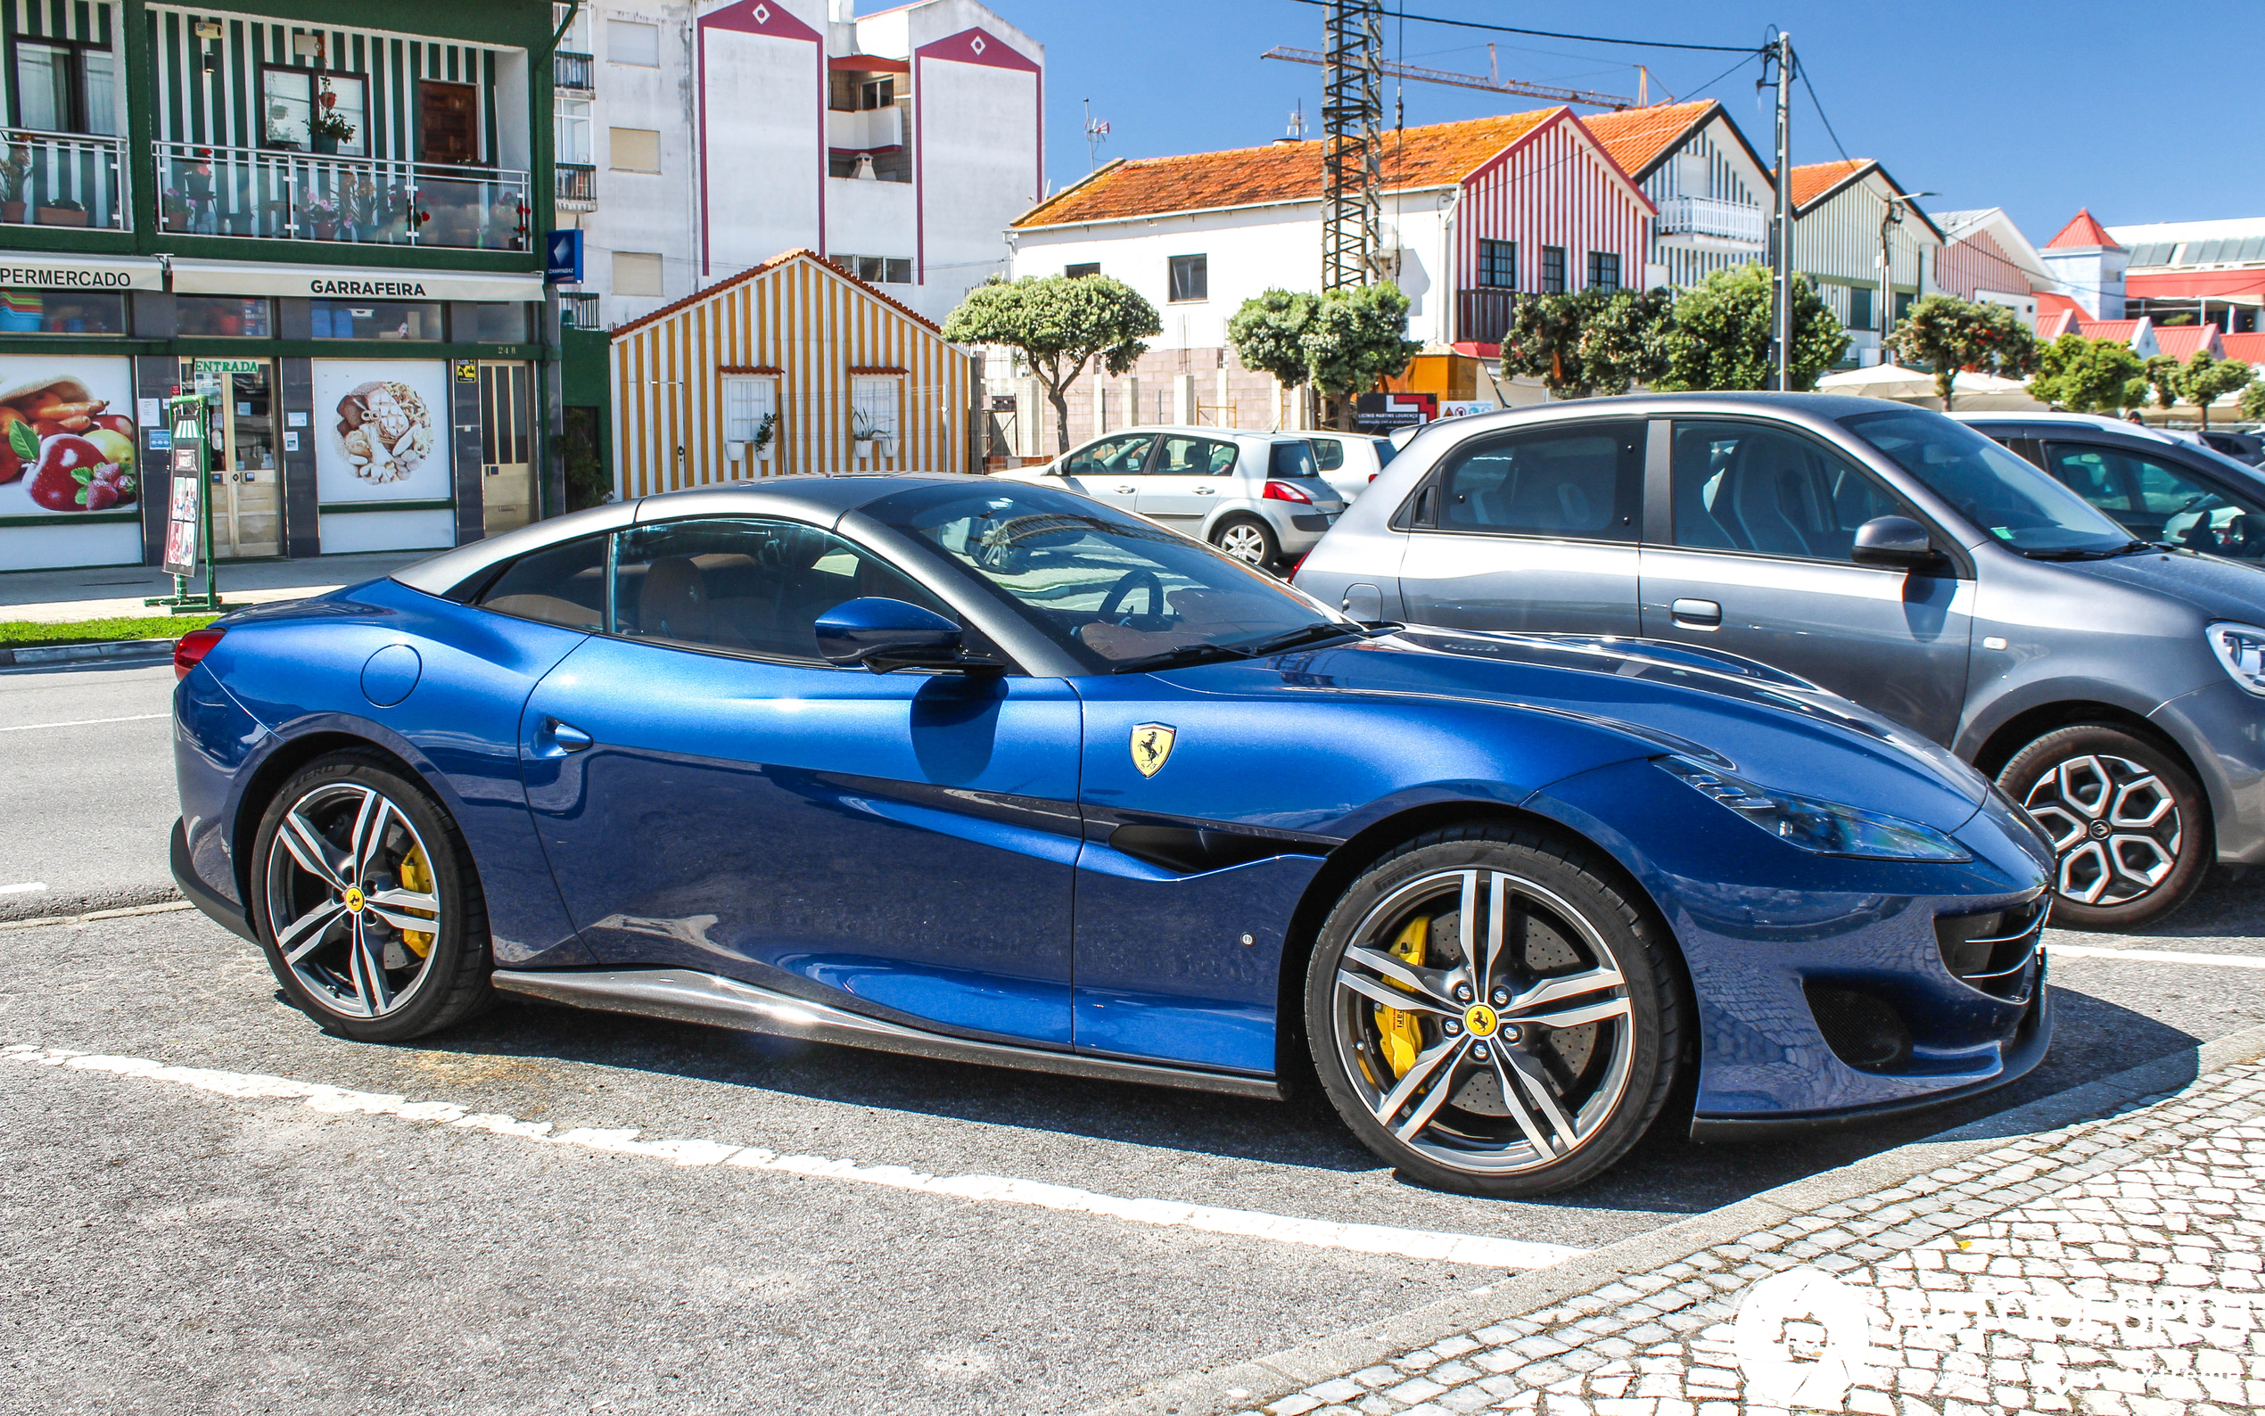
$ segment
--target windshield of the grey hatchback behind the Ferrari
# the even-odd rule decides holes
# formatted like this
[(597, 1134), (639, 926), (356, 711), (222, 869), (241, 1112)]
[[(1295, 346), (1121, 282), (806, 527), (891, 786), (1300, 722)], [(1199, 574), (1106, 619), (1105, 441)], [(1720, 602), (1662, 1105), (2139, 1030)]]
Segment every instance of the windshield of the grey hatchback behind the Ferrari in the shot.
[(2005, 546), (2041, 560), (2116, 555), (2131, 532), (2088, 501), (1966, 424), (1903, 408), (1860, 412), (1841, 426), (1896, 460)]

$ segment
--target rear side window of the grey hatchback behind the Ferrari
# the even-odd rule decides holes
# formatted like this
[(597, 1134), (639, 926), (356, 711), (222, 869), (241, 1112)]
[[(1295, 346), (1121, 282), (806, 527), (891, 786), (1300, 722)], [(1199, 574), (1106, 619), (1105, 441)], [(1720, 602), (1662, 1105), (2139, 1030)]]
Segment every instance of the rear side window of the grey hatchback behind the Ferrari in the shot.
[(1633, 541), (1644, 424), (1579, 424), (1479, 437), (1438, 480), (1438, 528)]

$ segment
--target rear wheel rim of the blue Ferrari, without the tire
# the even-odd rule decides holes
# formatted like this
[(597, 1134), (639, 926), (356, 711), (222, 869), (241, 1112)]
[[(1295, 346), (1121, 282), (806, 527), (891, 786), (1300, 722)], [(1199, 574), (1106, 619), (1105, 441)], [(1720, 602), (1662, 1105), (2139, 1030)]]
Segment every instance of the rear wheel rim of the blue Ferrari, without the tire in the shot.
[(433, 856), (408, 816), (356, 782), (317, 786), (267, 852), (276, 952), (342, 1017), (399, 1013), (424, 988), (442, 909)]

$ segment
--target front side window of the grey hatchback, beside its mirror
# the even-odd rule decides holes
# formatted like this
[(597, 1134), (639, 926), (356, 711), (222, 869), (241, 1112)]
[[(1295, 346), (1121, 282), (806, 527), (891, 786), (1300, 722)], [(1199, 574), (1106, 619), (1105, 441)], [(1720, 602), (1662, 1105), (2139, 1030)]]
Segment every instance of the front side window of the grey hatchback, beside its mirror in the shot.
[(1674, 426), (1676, 546), (1848, 560), (1873, 517), (1909, 517), (1887, 487), (1798, 433), (1762, 424)]

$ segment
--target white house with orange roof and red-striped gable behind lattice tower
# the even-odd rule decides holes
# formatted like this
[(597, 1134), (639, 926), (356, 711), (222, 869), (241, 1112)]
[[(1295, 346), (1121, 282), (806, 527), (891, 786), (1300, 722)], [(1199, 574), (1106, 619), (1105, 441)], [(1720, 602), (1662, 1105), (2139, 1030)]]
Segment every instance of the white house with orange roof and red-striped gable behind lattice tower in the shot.
[[(1572, 109), (1388, 131), (1382, 156), (1382, 245), (1425, 344), (1497, 342), (1518, 292), (1644, 281), (1656, 208)], [(1320, 143), (1284, 138), (1108, 163), (1017, 220), (1017, 276), (1110, 274), (1164, 317), (1130, 381), (1074, 394), (1071, 435), (1271, 421), (1225, 326), (1266, 288), (1320, 288)]]

